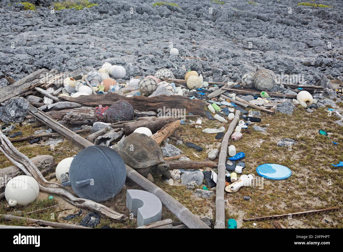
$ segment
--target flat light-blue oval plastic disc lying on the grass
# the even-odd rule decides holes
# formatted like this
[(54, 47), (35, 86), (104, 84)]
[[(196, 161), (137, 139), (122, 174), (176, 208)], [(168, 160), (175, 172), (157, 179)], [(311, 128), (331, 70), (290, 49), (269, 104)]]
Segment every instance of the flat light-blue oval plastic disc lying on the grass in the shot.
[(286, 179), (292, 175), (292, 171), (286, 166), (278, 164), (259, 165), (256, 172), (261, 177), (274, 180)]

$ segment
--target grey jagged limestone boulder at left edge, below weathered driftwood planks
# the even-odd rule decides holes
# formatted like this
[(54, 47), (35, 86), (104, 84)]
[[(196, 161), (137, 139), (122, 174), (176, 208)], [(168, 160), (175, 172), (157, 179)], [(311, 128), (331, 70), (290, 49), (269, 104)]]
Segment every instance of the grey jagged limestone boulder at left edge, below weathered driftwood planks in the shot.
[(23, 97), (11, 98), (0, 106), (0, 120), (9, 122), (23, 122), (28, 115), (28, 105), (30, 103)]

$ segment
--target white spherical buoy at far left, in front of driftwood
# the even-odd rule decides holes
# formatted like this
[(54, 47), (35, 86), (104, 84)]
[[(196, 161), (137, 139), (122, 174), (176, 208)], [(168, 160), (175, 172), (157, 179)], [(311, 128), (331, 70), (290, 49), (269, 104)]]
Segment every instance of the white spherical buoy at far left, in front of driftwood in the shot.
[(34, 202), (39, 194), (37, 181), (30, 176), (20, 175), (7, 182), (5, 198), (10, 206), (27, 206)]

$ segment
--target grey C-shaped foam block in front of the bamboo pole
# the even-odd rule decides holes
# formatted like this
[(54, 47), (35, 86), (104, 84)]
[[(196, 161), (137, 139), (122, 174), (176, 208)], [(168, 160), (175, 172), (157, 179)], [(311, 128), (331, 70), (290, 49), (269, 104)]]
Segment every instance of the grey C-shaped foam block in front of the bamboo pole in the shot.
[(162, 203), (150, 192), (127, 190), (126, 207), (134, 216), (137, 216), (137, 227), (161, 220)]

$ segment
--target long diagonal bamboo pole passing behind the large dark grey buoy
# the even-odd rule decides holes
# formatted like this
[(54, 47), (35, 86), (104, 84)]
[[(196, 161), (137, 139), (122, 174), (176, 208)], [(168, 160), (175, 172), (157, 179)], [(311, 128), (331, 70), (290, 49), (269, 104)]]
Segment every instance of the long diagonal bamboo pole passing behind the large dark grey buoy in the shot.
[[(88, 95), (89, 96), (89, 95)], [(83, 137), (77, 135), (76, 133), (72, 132), (68, 128), (64, 127), (60, 123), (53, 120), (51, 117), (46, 115), (43, 111), (37, 110), (36, 108), (29, 106), (29, 111), (31, 115), (37, 118), (42, 123), (46, 124), (53, 130), (59, 132), (61, 135), (67, 137), (67, 139), (72, 140), (73, 143), (77, 144), (82, 148), (86, 148), (88, 146), (93, 145), (91, 142), (87, 141)], [(187, 227), (189, 228), (209, 228), (206, 224), (204, 224), (197, 216), (192, 214), (189, 209), (187, 209), (184, 205), (170, 196), (168, 193), (163, 191), (161, 188), (157, 187), (154, 183), (144, 178), (140, 175), (137, 171), (132, 169), (130, 166), (126, 165), (126, 177), (145, 191), (150, 192), (158, 197), (161, 200), (162, 204), (171, 212), (173, 213), (179, 220), (181, 220)], [(94, 211), (94, 210), (93, 210)], [(112, 211), (112, 210), (111, 210)], [(95, 211), (94, 211), (95, 212)], [(114, 212), (114, 211), (113, 211)], [(104, 214), (104, 213), (102, 213)], [(118, 213), (117, 213), (118, 214)], [(106, 215), (106, 214), (105, 214)]]

